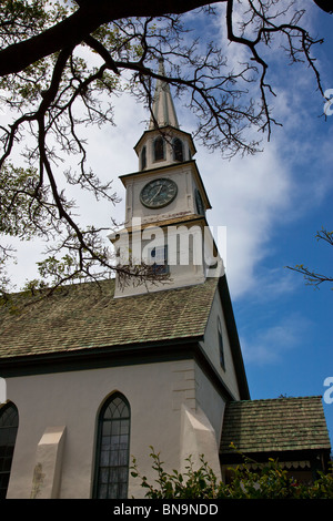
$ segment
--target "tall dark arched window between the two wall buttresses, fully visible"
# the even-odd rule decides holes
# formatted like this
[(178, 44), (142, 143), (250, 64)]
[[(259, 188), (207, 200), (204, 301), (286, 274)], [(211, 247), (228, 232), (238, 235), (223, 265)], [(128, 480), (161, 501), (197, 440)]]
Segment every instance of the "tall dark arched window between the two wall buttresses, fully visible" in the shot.
[(97, 499), (128, 497), (130, 463), (130, 406), (119, 392), (103, 405), (98, 420), (95, 480)]

